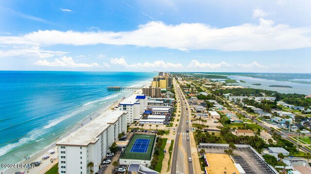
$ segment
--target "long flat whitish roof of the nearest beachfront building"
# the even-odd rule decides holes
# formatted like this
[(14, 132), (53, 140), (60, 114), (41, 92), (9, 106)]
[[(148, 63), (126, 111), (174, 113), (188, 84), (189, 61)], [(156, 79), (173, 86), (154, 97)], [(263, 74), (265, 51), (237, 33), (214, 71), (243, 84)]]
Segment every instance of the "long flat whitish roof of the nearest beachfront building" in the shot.
[(105, 111), (91, 122), (87, 123), (81, 128), (78, 128), (67, 137), (58, 141), (56, 145), (87, 146), (90, 143), (95, 143), (99, 140), (98, 135), (100, 135), (107, 127), (109, 127), (110, 124), (118, 121), (123, 113), (126, 112), (119, 110)]

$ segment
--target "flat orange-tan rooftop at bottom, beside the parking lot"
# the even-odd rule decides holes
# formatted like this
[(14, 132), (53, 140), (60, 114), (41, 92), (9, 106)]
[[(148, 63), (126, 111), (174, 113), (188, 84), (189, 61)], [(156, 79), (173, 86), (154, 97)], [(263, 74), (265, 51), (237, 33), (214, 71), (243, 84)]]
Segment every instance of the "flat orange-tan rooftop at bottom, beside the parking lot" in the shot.
[(209, 167), (206, 167), (208, 174), (240, 174), (230, 157), (226, 154), (205, 154)]

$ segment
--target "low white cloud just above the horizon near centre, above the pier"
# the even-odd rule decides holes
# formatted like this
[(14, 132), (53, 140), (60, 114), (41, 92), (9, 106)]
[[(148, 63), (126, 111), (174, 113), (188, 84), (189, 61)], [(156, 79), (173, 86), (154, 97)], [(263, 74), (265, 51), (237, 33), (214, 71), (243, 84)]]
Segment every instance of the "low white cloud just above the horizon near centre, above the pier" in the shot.
[(181, 68), (183, 65), (181, 63), (165, 63), (164, 61), (155, 61), (153, 63), (126, 63), (124, 58), (111, 58), (111, 64), (121, 65), (126, 68)]

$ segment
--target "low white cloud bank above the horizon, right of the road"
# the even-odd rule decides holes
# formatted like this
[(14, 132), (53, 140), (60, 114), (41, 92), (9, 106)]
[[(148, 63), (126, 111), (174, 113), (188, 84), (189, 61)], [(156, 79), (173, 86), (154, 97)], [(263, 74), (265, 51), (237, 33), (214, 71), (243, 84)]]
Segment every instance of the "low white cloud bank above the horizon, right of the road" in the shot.
[(254, 68), (267, 68), (267, 66), (259, 64), (258, 62), (253, 63), (237, 63), (237, 64), (230, 64), (226, 62), (221, 63), (200, 63), (197, 60), (192, 60), (188, 64), (189, 68), (208, 68), (208, 69), (254, 69)]

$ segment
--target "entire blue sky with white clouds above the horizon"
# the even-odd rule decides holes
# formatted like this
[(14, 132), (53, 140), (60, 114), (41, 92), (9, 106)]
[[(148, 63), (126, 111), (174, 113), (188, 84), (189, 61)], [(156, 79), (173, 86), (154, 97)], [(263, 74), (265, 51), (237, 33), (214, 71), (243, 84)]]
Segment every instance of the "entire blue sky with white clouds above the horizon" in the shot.
[(310, 0), (0, 2), (0, 70), (311, 73)]

